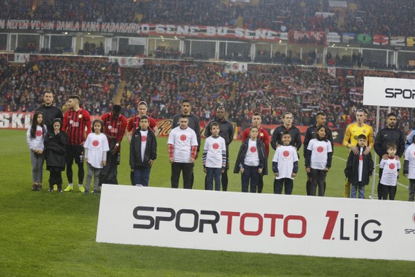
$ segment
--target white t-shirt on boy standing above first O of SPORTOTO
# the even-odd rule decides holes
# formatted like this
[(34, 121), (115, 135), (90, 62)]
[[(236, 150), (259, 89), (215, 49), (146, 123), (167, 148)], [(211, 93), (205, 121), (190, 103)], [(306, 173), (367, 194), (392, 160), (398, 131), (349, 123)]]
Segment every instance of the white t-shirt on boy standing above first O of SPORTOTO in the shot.
[(174, 147), (173, 161), (175, 163), (190, 163), (192, 146), (198, 145), (196, 133), (189, 127), (181, 129), (180, 126), (172, 129), (167, 144), (172, 144)]

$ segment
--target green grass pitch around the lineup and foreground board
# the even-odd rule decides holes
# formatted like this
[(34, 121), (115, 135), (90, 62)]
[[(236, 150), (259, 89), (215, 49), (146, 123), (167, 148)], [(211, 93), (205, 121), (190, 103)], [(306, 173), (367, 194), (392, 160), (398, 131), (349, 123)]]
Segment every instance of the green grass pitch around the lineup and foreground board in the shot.
[[(47, 185), (41, 192), (31, 191), (25, 132), (0, 130), (0, 137), (0, 276), (412, 276), (415, 269), (414, 262), (404, 261), (97, 243), (99, 197), (81, 195), (76, 188), (72, 193), (50, 194), (45, 189)], [(151, 170), (151, 186), (170, 185), (166, 143), (167, 139), (158, 139), (158, 159)], [(232, 143), (231, 161), (239, 145), (239, 141)], [(346, 159), (347, 151), (336, 147), (335, 156)], [(333, 159), (327, 177), (327, 196), (342, 196), (344, 163)], [(304, 160), (300, 159), (302, 170), (293, 190), (296, 195), (305, 194), (303, 164)], [(202, 189), (204, 175), (200, 158), (195, 171), (194, 187)], [(48, 176), (45, 170), (45, 184)], [(65, 186), (65, 174), (63, 179)], [(122, 144), (118, 180), (129, 185), (127, 140)], [(404, 177), (399, 181), (408, 184)], [(272, 175), (265, 177), (264, 183), (264, 193), (271, 193)], [(230, 190), (239, 191), (240, 186), (240, 176), (230, 173)], [(369, 194), (368, 187), (366, 195)], [(398, 186), (396, 198), (406, 200), (407, 189)]]

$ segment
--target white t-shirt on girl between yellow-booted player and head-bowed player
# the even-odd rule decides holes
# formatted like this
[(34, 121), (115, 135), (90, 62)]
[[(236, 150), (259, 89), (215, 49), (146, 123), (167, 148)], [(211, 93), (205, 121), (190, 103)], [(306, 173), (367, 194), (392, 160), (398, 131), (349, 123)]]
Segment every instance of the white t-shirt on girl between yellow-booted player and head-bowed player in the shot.
[[(109, 151), (108, 139), (104, 134), (91, 133), (86, 137), (84, 143), (86, 148), (86, 159), (93, 168), (102, 168), (102, 161), (104, 157), (107, 157), (107, 151)], [(105, 153), (105, 156), (104, 156)]]

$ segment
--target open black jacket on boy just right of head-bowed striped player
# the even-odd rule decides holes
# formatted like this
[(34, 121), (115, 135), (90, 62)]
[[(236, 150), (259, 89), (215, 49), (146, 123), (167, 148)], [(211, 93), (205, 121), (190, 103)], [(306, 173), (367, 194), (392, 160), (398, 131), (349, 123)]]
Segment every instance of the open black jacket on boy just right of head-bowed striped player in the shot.
[(141, 158), (141, 133), (140, 127), (134, 131), (130, 143), (130, 168), (149, 167), (149, 161), (157, 158), (156, 135), (148, 129), (147, 145), (145, 148), (144, 159)]

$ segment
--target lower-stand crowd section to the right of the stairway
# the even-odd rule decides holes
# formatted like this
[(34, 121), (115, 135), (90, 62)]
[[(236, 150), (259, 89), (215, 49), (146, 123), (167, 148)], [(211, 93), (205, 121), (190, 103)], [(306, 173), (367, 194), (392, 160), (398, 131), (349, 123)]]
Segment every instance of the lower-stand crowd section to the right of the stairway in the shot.
[[(205, 121), (219, 106), (237, 125), (249, 123), (255, 111), (263, 114), (264, 124), (280, 124), (280, 115), (291, 111), (295, 124), (309, 125), (313, 114), (325, 111), (331, 127), (342, 128), (363, 107), (368, 123), (374, 125), (376, 107), (362, 105), (363, 77), (415, 78), (410, 73), (354, 69), (337, 69), (333, 74), (313, 66), (250, 64), (244, 72), (223, 68), (223, 64), (147, 60), (139, 69), (125, 71), (124, 114), (133, 116), (137, 103), (144, 100), (154, 118), (172, 118), (180, 110), (180, 101), (190, 99), (194, 113)], [(412, 129), (414, 111), (394, 111), (400, 128)], [(384, 120), (380, 123), (385, 125)]]

